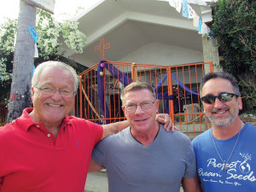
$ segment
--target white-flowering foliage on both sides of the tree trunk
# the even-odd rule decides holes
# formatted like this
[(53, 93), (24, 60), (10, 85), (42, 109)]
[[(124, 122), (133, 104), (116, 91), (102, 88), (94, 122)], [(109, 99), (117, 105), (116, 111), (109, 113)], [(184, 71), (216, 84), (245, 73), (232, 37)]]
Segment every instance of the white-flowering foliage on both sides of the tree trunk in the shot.
[[(34, 65), (37, 66), (43, 61), (63, 61), (75, 68), (77, 73), (81, 73), (86, 67), (73, 63), (64, 58), (64, 49), (61, 49), (61, 40), (68, 48), (77, 53), (83, 52), (86, 37), (78, 29), (79, 23), (76, 20), (64, 20), (58, 22), (52, 15), (37, 10), (38, 32), (38, 58), (35, 58)], [(6, 20), (0, 26), (0, 104), (7, 105), (9, 102), (9, 92), (11, 87), (11, 73), (14, 63), (15, 34), (17, 32), (17, 20)]]

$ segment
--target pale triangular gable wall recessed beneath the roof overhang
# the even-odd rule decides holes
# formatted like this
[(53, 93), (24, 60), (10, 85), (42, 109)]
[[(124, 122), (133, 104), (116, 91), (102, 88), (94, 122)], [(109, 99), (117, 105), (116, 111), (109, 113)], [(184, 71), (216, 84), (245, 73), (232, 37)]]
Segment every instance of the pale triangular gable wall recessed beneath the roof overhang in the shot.
[(151, 42), (134, 50), (119, 61), (165, 66), (201, 62), (204, 60), (202, 51)]

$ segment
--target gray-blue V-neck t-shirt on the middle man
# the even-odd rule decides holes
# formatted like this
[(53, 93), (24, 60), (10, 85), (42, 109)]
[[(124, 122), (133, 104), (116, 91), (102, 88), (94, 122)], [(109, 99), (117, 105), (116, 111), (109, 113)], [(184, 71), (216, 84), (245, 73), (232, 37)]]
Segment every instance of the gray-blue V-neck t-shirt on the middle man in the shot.
[(96, 145), (92, 158), (107, 169), (109, 192), (178, 192), (183, 177), (195, 177), (195, 154), (189, 137), (166, 132), (154, 142), (138, 143), (130, 127)]

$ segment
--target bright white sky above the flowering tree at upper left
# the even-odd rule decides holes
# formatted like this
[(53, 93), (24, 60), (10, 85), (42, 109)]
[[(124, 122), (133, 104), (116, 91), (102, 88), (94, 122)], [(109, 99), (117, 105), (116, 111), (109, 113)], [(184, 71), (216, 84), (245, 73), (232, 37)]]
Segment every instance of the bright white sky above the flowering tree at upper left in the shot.
[[(64, 13), (75, 15), (79, 7), (90, 9), (94, 4), (100, 0), (55, 0), (55, 16), (57, 20), (61, 20)], [(18, 18), (19, 16), (20, 0), (1, 1), (0, 4), (0, 24), (3, 24), (4, 18), (10, 19)]]

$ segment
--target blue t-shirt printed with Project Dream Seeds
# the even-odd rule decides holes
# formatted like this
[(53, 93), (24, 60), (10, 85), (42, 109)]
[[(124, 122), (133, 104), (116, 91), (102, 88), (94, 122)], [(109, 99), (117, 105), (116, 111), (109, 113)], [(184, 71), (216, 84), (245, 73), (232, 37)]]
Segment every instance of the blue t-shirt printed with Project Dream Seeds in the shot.
[[(236, 143), (236, 136), (227, 140), (214, 138), (221, 158), (229, 159)], [(192, 142), (197, 162), (197, 173), (204, 192), (256, 191), (256, 126), (245, 124), (241, 129), (236, 148), (224, 163), (212, 142), (212, 129), (195, 137)]]

